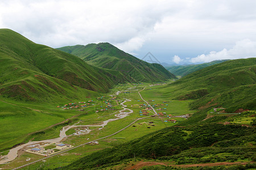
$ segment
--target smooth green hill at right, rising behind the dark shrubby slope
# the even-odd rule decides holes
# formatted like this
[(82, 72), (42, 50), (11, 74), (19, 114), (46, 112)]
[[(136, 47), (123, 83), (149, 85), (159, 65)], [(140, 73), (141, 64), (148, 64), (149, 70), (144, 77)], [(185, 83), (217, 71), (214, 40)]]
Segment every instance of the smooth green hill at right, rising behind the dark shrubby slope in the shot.
[(256, 109), (256, 58), (234, 59), (184, 76), (162, 91), (174, 99), (197, 99), (191, 109)]

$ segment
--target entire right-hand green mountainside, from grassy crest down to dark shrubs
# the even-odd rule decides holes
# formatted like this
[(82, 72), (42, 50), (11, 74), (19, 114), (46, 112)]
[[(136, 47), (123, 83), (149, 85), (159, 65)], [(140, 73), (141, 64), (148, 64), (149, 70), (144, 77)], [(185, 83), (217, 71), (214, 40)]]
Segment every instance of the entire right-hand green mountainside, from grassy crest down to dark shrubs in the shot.
[[(176, 164), (254, 161), (255, 127), (251, 126), (254, 125), (254, 113), (210, 113), (209, 117), (207, 113), (213, 107), (225, 108), (224, 113), (255, 109), (255, 63), (255, 58), (226, 61), (174, 83), (147, 87), (141, 92), (146, 100), (152, 100), (152, 96), (155, 100), (169, 100), (171, 103), (173, 99), (187, 100), (190, 101), (189, 108), (199, 111), (187, 121), (180, 122), (182, 127), (159, 130), (95, 152), (65, 168), (111, 167), (127, 162), (134, 154), (138, 159), (168, 160)], [(235, 123), (238, 120), (241, 123)], [(216, 124), (226, 121), (234, 125)], [(239, 124), (247, 124), (249, 128)], [(195, 153), (201, 155), (192, 155)]]

